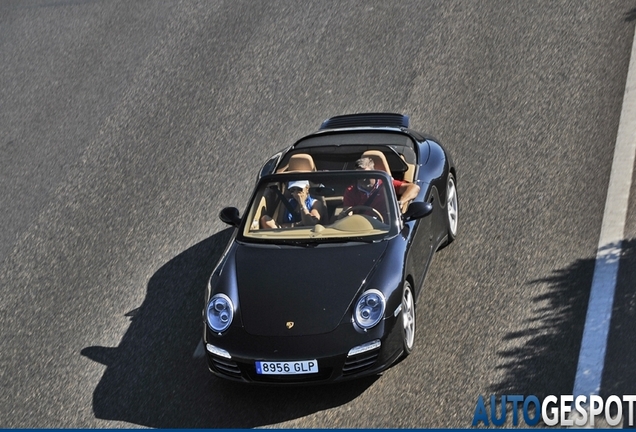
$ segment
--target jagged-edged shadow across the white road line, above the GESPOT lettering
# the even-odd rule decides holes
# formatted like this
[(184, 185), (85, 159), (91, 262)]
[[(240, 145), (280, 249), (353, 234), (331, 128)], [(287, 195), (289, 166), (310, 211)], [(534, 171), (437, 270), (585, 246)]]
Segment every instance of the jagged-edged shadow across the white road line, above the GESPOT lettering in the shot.
[[(601, 396), (636, 394), (636, 240), (624, 240), (601, 384)], [(572, 394), (578, 364), (595, 258), (580, 259), (567, 268), (531, 284), (548, 284), (548, 292), (534, 298), (534, 317), (523, 330), (504, 340), (524, 340), (519, 348), (503, 350), (499, 369), (504, 379), (494, 394)]]

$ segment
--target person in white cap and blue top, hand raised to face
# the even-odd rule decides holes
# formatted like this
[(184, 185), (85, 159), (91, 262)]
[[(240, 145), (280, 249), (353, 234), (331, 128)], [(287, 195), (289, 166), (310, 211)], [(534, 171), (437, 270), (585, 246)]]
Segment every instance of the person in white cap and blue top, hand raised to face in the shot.
[(270, 216), (261, 217), (260, 224), (263, 229), (290, 228), (295, 226), (313, 226), (320, 222), (322, 203), (309, 195), (309, 182), (307, 180), (291, 181), (287, 184), (290, 198), (287, 204), (283, 203), (283, 214), (279, 219), (280, 225)]

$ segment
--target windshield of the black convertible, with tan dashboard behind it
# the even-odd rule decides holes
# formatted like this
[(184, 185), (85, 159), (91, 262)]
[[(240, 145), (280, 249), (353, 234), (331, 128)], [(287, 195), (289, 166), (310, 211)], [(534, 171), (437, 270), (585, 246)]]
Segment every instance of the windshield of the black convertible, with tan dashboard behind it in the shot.
[(271, 243), (376, 241), (397, 233), (392, 179), (371, 170), (263, 177), (240, 237)]

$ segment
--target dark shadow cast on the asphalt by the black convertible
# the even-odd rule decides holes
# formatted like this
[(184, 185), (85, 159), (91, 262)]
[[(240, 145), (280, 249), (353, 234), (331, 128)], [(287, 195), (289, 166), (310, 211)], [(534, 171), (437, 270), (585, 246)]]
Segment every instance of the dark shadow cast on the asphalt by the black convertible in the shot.
[(163, 265), (118, 347), (84, 348), (106, 365), (93, 393), (100, 419), (154, 428), (253, 428), (345, 404), (376, 378), (312, 387), (248, 386), (214, 377), (196, 355), (204, 289), (232, 234), (221, 231)]

